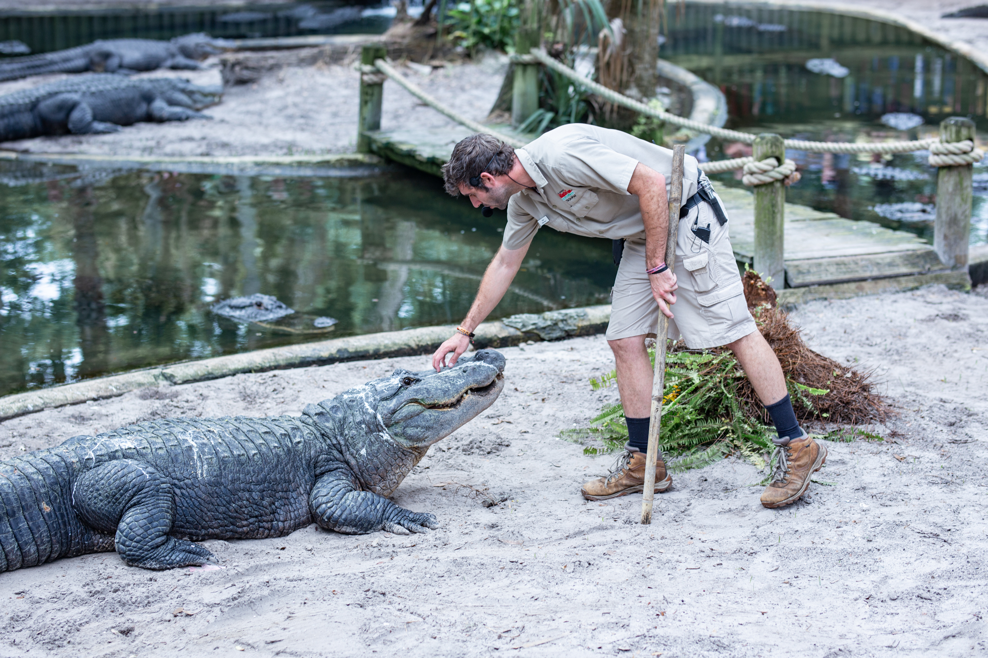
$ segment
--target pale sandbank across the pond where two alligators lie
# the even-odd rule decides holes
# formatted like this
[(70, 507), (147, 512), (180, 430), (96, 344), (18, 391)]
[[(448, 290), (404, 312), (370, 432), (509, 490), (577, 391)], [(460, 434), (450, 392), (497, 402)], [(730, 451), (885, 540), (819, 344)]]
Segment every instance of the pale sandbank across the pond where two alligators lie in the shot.
[[(154, 71), (144, 76), (186, 77), (218, 85), (215, 62), (206, 71)], [(478, 62), (449, 64), (428, 71), (403, 68), (405, 77), (453, 110), (483, 121), (497, 99), (508, 57), (490, 53)], [(62, 75), (34, 76), (0, 83), (0, 94)], [(41, 153), (104, 155), (298, 155), (351, 153), (357, 142), (360, 74), (352, 65), (292, 66), (251, 85), (228, 87), (220, 104), (205, 112), (211, 121), (135, 123), (111, 134), (37, 137), (0, 143)], [(418, 101), (396, 83), (384, 83), (383, 129), (408, 125), (452, 127), (452, 120)]]

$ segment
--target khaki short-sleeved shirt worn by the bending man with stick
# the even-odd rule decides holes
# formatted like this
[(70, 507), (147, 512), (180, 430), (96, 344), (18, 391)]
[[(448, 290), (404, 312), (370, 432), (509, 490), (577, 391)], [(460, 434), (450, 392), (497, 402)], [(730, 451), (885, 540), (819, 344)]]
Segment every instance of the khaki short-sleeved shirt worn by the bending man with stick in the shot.
[[(541, 226), (613, 240), (645, 237), (638, 197), (627, 185), (639, 162), (666, 177), (673, 152), (620, 130), (570, 123), (549, 130), (515, 150), (535, 190), (523, 190), (508, 202), (506, 249), (519, 249)], [(697, 193), (697, 158), (686, 156), (683, 201)]]

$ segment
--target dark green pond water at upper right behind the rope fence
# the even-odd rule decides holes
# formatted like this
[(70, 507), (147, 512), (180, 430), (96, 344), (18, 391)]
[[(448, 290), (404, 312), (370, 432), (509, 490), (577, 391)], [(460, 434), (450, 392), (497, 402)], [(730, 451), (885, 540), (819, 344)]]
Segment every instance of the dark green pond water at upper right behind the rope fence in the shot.
[[(817, 12), (687, 4), (669, 10), (660, 55), (720, 87), (727, 127), (819, 141), (888, 141), (931, 136), (947, 117), (970, 117), (988, 140), (988, 76), (901, 28)], [(843, 77), (814, 73), (806, 62), (833, 58)], [(838, 71), (843, 73), (844, 71)], [(911, 113), (924, 123), (895, 130), (880, 119)], [(712, 139), (711, 160), (750, 155), (740, 143)], [(796, 204), (869, 219), (933, 238), (936, 170), (927, 153), (884, 157), (789, 150), (803, 180)], [(715, 177), (740, 185), (740, 174)], [(975, 167), (971, 244), (988, 243), (988, 167)]]

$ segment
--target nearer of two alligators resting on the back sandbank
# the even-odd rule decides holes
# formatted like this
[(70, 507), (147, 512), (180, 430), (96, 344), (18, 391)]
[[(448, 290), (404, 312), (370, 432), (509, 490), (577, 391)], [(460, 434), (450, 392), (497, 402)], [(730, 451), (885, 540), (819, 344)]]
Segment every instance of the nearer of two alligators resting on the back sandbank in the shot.
[(182, 78), (133, 79), (112, 73), (68, 78), (0, 96), (0, 141), (72, 132), (114, 132), (137, 122), (207, 118), (222, 89)]

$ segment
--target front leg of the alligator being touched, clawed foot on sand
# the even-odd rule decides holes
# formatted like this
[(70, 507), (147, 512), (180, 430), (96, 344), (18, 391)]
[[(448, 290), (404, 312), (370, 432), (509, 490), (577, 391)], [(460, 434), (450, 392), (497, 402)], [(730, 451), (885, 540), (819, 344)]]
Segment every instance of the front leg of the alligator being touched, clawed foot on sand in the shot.
[(371, 491), (360, 491), (349, 478), (338, 473), (327, 473), (316, 480), (309, 506), (319, 526), (347, 535), (366, 535), (379, 530), (409, 535), (439, 528), (433, 515), (411, 512)]

